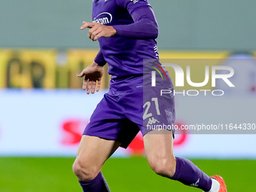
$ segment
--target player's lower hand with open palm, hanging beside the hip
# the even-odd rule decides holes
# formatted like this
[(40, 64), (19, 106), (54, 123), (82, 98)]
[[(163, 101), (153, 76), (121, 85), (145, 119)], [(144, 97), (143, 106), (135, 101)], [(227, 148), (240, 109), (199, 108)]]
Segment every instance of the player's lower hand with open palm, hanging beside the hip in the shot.
[(93, 62), (80, 74), (77, 74), (78, 78), (84, 77), (83, 90), (87, 90), (87, 94), (95, 93), (95, 90), (97, 92), (99, 91), (103, 73), (103, 67), (98, 66), (96, 62)]

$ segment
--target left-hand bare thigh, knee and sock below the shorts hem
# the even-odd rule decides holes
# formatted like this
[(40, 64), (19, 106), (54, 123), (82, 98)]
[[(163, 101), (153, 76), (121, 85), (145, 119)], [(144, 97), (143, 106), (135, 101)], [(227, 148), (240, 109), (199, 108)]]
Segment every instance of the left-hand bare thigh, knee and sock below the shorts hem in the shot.
[(105, 160), (117, 150), (120, 142), (84, 135), (73, 164), (84, 191), (110, 191), (100, 170)]

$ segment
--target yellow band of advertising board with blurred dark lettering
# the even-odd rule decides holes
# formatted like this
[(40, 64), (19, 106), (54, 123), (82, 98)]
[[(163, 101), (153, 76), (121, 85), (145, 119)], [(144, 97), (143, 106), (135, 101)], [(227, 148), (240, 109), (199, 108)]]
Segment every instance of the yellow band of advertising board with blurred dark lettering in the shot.
[[(89, 66), (99, 50), (55, 50), (55, 49), (0, 49), (0, 88), (75, 88), (81, 89), (82, 79), (76, 74)], [(190, 80), (203, 82), (206, 66), (211, 76), (212, 66), (223, 63), (230, 51), (160, 50), (161, 63), (175, 63), (184, 71), (184, 87), (177, 89), (212, 90), (211, 77), (204, 87), (191, 87), (187, 84), (187, 66), (190, 67)], [(253, 53), (256, 56), (256, 52)], [(166, 67), (175, 84), (175, 71)], [(110, 75), (108, 65), (102, 78), (102, 88), (108, 88)]]

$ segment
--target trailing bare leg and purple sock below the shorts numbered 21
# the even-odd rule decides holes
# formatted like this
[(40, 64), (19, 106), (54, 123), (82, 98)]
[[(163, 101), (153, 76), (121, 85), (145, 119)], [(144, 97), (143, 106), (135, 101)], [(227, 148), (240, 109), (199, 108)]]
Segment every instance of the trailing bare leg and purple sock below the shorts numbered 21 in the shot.
[[(198, 187), (204, 191), (211, 190), (212, 178), (190, 160), (174, 156), (172, 132), (169, 130), (154, 130), (151, 133), (147, 133), (143, 139), (145, 154), (154, 172), (166, 178), (180, 181), (183, 184)], [(218, 187), (218, 182), (215, 183), (214, 181), (211, 191), (218, 192)]]

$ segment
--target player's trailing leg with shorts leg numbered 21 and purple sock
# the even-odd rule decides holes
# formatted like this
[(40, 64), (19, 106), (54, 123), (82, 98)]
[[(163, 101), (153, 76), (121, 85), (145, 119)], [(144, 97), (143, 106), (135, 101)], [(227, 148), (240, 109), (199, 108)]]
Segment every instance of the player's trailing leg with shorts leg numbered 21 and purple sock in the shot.
[[(158, 61), (148, 62), (147, 60), (145, 60), (143, 69), (145, 74), (143, 79), (144, 111), (143, 126), (140, 128), (144, 135), (148, 163), (158, 175), (209, 191), (212, 184), (215, 185), (215, 181), (212, 181), (190, 160), (175, 157), (173, 154), (172, 130), (168, 130), (168, 125), (173, 125), (175, 121), (174, 87), (166, 69), (162, 70), (166, 75), (166, 80), (163, 81), (160, 75), (155, 76), (156, 86), (151, 86), (151, 71), (155, 66), (163, 69)], [(162, 95), (162, 90), (167, 91)], [(218, 190), (212, 191), (218, 192)]]

